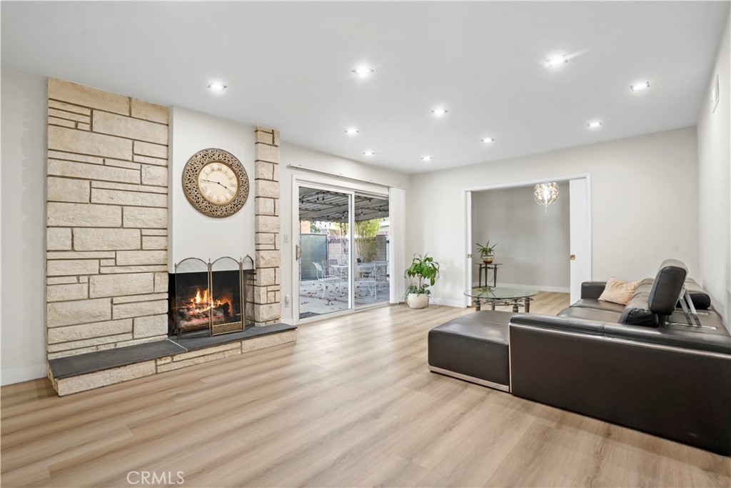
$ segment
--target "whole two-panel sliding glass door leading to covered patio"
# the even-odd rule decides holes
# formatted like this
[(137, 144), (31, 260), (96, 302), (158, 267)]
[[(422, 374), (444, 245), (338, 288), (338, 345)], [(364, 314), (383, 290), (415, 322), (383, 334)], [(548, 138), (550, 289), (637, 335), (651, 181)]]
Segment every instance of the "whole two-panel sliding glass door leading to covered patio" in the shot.
[(390, 299), (388, 197), (298, 183), (298, 319)]

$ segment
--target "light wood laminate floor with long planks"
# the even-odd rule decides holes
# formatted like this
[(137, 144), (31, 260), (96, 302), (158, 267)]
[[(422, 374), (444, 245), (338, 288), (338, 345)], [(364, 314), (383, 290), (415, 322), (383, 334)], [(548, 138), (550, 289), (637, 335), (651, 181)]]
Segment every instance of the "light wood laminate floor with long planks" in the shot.
[[(567, 304), (541, 293), (531, 311)], [(728, 457), (429, 372), (428, 330), (471, 312), (369, 309), (300, 326), (296, 343), (64, 398), (48, 380), (5, 386), (0, 484), (181, 471), (171, 486), (730, 486)]]

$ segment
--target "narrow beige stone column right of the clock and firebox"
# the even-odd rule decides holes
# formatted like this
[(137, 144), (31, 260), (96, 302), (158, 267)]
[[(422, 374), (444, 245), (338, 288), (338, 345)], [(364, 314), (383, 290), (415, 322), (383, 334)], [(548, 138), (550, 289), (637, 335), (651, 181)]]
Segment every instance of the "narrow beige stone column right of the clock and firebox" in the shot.
[(254, 136), (254, 323), (263, 326), (281, 318), (279, 131), (255, 127)]

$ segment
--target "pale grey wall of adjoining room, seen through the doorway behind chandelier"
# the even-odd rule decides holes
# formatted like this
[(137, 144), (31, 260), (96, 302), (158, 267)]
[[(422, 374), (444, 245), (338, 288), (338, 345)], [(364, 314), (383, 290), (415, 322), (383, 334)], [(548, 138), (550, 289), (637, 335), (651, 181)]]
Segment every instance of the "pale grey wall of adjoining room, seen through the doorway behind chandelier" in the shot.
[[(548, 207), (548, 213), (535, 203), (532, 185), (472, 192), (472, 222), (474, 263), (482, 263), (475, 243), (485, 244), (489, 239), (498, 244), (495, 262), (502, 265), (498, 285), (569, 293), (567, 182), (558, 183), (558, 200)], [(477, 285), (477, 266), (472, 270), (472, 282)], [(489, 277), (492, 279), (492, 271)]]

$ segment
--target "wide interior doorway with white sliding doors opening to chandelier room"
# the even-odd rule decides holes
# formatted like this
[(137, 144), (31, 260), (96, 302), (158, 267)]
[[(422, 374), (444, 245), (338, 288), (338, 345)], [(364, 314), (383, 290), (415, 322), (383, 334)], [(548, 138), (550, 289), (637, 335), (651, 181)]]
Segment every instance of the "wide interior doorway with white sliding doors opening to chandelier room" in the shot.
[[(541, 209), (533, 187), (546, 181), (558, 182), (559, 196)], [(581, 282), (591, 279), (588, 184), (588, 175), (580, 175), (465, 189), (465, 289), (477, 285), (482, 271), (490, 275), (480, 285), (569, 291), (571, 301), (578, 300)], [(548, 218), (541, 219), (544, 212)], [(488, 239), (498, 244), (498, 266), (480, 266), (477, 244)]]

